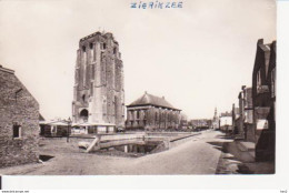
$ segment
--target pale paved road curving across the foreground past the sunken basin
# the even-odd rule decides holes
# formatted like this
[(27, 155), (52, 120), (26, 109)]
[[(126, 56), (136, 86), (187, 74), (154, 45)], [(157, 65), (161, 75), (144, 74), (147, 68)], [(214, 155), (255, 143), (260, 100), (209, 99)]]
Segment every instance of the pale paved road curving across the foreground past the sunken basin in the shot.
[(215, 174), (221, 151), (208, 142), (221, 141), (218, 131), (203, 131), (176, 148), (141, 158), (84, 153), (57, 153), (44, 164), (0, 170), (2, 174), (97, 175), (97, 174)]

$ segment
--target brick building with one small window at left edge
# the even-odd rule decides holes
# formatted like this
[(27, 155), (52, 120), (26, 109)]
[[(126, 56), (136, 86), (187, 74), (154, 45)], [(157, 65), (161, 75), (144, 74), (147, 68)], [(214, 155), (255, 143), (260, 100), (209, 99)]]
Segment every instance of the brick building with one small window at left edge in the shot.
[(0, 65), (0, 167), (38, 161), (38, 102)]

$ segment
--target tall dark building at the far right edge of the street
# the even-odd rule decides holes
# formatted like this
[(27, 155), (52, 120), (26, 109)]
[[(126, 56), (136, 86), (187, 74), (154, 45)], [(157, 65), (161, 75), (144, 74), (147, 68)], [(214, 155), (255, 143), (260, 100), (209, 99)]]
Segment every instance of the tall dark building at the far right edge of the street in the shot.
[(276, 146), (276, 41), (257, 42), (252, 73), (256, 161), (273, 161)]

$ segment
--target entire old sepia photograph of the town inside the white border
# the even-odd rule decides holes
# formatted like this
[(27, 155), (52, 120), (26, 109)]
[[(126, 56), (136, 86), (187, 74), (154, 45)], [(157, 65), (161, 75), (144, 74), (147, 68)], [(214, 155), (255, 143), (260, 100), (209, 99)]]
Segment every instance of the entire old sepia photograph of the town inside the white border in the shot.
[(275, 0), (0, 0), (0, 175), (276, 174)]

